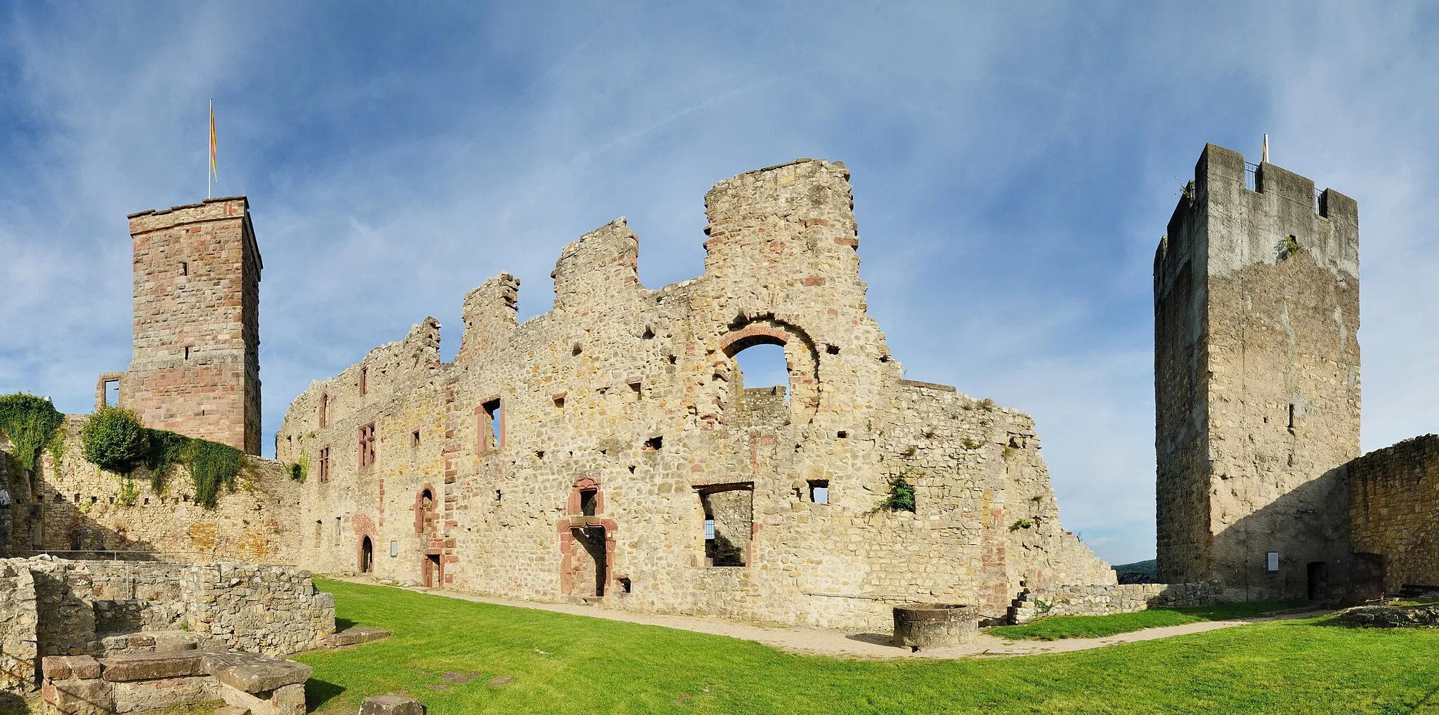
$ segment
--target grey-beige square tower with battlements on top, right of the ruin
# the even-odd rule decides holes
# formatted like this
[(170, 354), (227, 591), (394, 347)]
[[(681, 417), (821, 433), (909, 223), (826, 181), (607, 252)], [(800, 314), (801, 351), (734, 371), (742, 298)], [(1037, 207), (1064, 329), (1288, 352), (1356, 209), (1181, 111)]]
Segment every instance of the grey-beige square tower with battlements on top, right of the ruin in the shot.
[(1360, 455), (1358, 206), (1268, 163), (1246, 184), (1206, 145), (1154, 258), (1158, 578), (1324, 597)]

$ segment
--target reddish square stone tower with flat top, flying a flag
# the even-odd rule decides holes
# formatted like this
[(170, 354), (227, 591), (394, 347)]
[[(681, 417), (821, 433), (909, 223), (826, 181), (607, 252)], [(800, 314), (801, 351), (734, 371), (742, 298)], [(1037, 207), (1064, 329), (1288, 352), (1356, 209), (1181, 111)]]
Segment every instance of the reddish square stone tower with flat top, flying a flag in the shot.
[[(260, 449), (260, 252), (243, 196), (130, 216), (134, 355), (119, 403), (150, 427)], [(102, 397), (104, 399), (104, 397)]]

